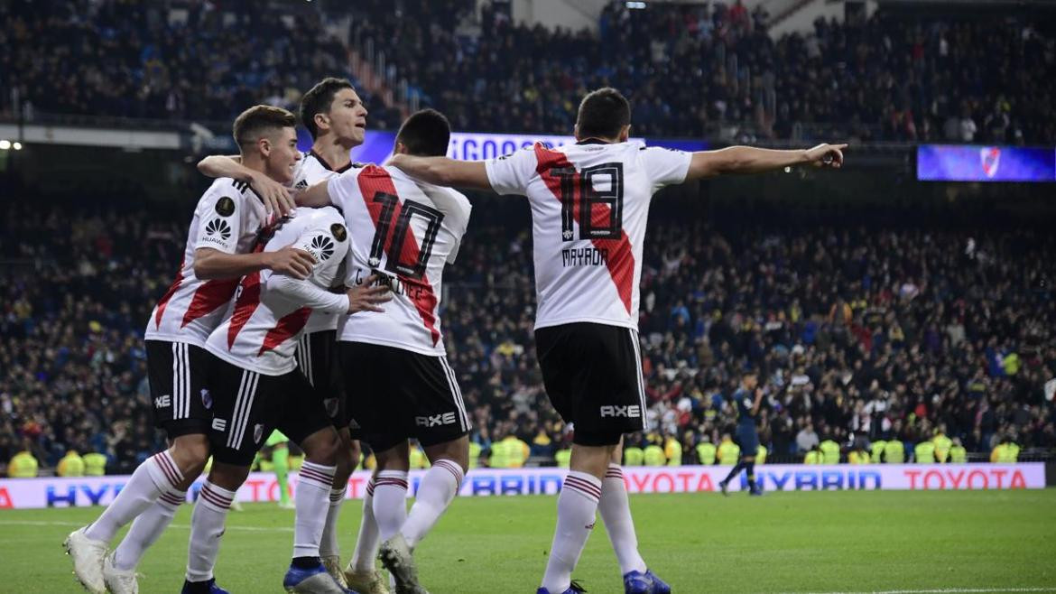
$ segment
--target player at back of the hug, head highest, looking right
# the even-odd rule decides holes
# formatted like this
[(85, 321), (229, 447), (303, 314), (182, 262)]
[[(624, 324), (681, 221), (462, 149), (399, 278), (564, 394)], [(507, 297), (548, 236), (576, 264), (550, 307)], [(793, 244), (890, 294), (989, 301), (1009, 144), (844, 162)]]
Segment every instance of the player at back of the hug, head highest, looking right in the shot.
[[(293, 188), (305, 189), (352, 168), (350, 151), (363, 144), (366, 131), (367, 111), (352, 82), (343, 78), (327, 77), (320, 80), (301, 99), (301, 123), (312, 134), (312, 150), (304, 153), (301, 166), (294, 177)], [(199, 164), (199, 170), (209, 177), (228, 175), (235, 179), (251, 179), (251, 171), (245, 170), (233, 157), (208, 156)], [(338, 279), (343, 281), (343, 277)], [(304, 335), (297, 344), (298, 369), (308, 379), (315, 396), (326, 407), (341, 439), (338, 451), (337, 471), (334, 475), (334, 489), (331, 491), (329, 508), (323, 531), (320, 554), (326, 570), (334, 579), (345, 586), (341, 571), (341, 550), (337, 539), (337, 521), (344, 504), (348, 477), (359, 464), (359, 442), (353, 439), (346, 396), (341, 386), (341, 370), (337, 366), (338, 315), (321, 311), (312, 313), (304, 329)], [(277, 463), (278, 467), (278, 463)], [(361, 532), (371, 533), (373, 516), (364, 517)], [(376, 527), (373, 528), (376, 531)], [(362, 575), (360, 575), (360, 573)], [(374, 594), (382, 587), (376, 569), (357, 573), (355, 581), (365, 593)]]

